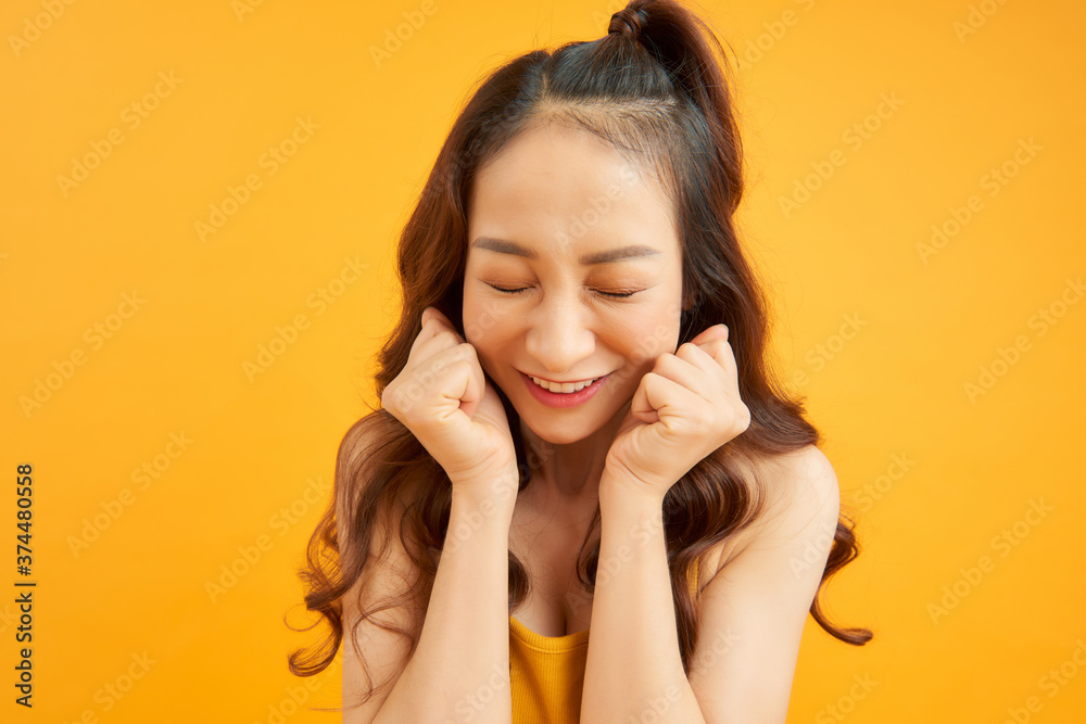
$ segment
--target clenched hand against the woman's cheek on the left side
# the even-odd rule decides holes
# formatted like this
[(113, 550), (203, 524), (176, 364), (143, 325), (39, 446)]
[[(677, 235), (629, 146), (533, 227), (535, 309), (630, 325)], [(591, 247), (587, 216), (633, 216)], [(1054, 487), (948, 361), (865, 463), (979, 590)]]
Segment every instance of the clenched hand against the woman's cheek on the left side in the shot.
[(481, 486), (516, 499), (517, 453), (502, 399), (487, 383), (475, 346), (432, 306), (422, 310), (422, 329), (404, 369), (384, 388), (381, 406), (412, 431), (454, 487)]

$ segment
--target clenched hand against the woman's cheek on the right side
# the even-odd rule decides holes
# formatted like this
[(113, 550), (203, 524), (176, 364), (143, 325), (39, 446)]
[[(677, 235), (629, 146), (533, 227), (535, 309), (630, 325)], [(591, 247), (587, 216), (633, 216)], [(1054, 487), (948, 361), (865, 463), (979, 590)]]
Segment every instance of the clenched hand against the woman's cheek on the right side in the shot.
[(662, 501), (691, 468), (750, 425), (737, 374), (723, 325), (660, 355), (629, 403), (605, 478)]

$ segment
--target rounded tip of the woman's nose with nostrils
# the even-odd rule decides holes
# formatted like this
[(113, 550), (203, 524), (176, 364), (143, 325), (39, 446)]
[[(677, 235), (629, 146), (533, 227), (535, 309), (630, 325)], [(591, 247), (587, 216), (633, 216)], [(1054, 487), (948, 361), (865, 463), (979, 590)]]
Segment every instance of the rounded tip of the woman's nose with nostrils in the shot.
[(556, 297), (544, 300), (528, 320), (528, 354), (555, 377), (586, 370), (581, 363), (595, 352), (596, 338), (590, 313), (583, 306)]

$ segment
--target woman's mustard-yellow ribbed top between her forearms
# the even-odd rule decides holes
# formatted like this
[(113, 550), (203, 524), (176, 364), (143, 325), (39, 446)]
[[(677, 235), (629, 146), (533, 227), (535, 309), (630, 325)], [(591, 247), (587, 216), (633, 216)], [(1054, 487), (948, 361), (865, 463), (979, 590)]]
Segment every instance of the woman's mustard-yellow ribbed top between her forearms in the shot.
[[(697, 595), (697, 567), (691, 575)], [(578, 724), (589, 630), (544, 636), (509, 617), (513, 724)]]

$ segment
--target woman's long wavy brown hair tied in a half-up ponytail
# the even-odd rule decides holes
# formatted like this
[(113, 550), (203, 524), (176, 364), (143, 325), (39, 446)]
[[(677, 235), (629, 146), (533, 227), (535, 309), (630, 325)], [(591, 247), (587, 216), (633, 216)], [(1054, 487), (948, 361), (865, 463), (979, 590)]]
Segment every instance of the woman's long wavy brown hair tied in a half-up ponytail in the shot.
[[(466, 209), (472, 179), (518, 134), (541, 120), (573, 123), (616, 149), (649, 158), (677, 211), (683, 290), (694, 300), (682, 315), (679, 344), (707, 327), (727, 325), (740, 394), (750, 410), (748, 429), (695, 465), (664, 499), (679, 648), (687, 673), (698, 630), (686, 583), (692, 568), (763, 511), (765, 484), (745, 463), (822, 442), (804, 417), (806, 398), (791, 396), (767, 361), (769, 307), (733, 224), (743, 195), (743, 152), (725, 77), (730, 73), (720, 41), (703, 20), (673, 0), (632, 0), (615, 13), (603, 38), (568, 42), (553, 52), (535, 50), (485, 77), (453, 124), (400, 237), (402, 312), (374, 376), (380, 397), (407, 363), (427, 306), (440, 309), (465, 335)], [(488, 384), (493, 384), (489, 378)], [(519, 430), (516, 409), (500, 389), (498, 394), (510, 429)], [(514, 442), (522, 492), (540, 462), (525, 449), (520, 435), (514, 434)], [(441, 466), (384, 409), (370, 408), (348, 430), (339, 447), (332, 504), (310, 539), (306, 566), (299, 572), (307, 587), (306, 607), (328, 621), (331, 633), (317, 650), (290, 655), (292, 673), (314, 675), (334, 659), (344, 635), (343, 597), (379, 563), (370, 546), (377, 522), (386, 520), (399, 523), (400, 542), (419, 575), (394, 599), (368, 609), (359, 600), (358, 623), (368, 619), (407, 636), (405, 661), (409, 659), (421, 618), (401, 628), (372, 615), (404, 602), (426, 610), (449, 525), (450, 493)], [(584, 595), (594, 589), (599, 543), (593, 532), (598, 524), (597, 508), (578, 556), (577, 577)], [(858, 554), (853, 521), (843, 513), (810, 613), (842, 642), (863, 645), (872, 637), (870, 630), (837, 627), (819, 605), (826, 579)], [(510, 612), (526, 600), (530, 586), (525, 566), (510, 551)], [(365, 698), (372, 693), (370, 678)]]

